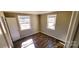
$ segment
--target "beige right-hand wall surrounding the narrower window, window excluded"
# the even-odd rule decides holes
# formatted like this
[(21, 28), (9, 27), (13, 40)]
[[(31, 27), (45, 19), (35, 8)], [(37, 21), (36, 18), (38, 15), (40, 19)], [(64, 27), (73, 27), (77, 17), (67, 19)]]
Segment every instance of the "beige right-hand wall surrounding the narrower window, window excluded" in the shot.
[(65, 37), (67, 34), (68, 25), (70, 23), (72, 12), (62, 11), (62, 12), (54, 12), (51, 14), (57, 15), (56, 29), (55, 30), (47, 29), (47, 15), (50, 14), (44, 14), (41, 15), (41, 32), (65, 42), (66, 41)]

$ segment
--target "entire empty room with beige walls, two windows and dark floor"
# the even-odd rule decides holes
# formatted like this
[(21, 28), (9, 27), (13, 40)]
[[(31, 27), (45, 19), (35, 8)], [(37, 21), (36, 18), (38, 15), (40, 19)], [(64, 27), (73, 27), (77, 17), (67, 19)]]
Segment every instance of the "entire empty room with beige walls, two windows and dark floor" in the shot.
[(0, 48), (78, 48), (78, 11), (0, 11)]

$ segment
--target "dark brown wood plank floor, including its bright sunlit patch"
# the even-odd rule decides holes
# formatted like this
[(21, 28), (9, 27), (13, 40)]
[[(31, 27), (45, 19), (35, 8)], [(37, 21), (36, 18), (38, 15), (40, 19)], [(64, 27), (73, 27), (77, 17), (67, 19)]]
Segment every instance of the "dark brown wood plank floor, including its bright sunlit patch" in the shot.
[(14, 42), (14, 48), (63, 48), (61, 43), (48, 35), (37, 33)]

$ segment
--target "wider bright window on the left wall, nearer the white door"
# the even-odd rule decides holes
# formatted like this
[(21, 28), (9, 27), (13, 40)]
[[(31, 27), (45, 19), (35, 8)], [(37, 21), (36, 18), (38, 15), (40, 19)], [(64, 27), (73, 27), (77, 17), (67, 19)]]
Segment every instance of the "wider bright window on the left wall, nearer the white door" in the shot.
[(31, 29), (30, 16), (18, 16), (21, 30)]

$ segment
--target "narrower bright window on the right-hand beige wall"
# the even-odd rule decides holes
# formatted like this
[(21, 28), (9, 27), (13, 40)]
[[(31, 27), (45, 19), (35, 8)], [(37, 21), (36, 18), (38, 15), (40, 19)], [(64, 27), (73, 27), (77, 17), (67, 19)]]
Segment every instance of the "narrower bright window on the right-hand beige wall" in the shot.
[(56, 15), (48, 15), (47, 16), (47, 28), (55, 30), (56, 24)]

